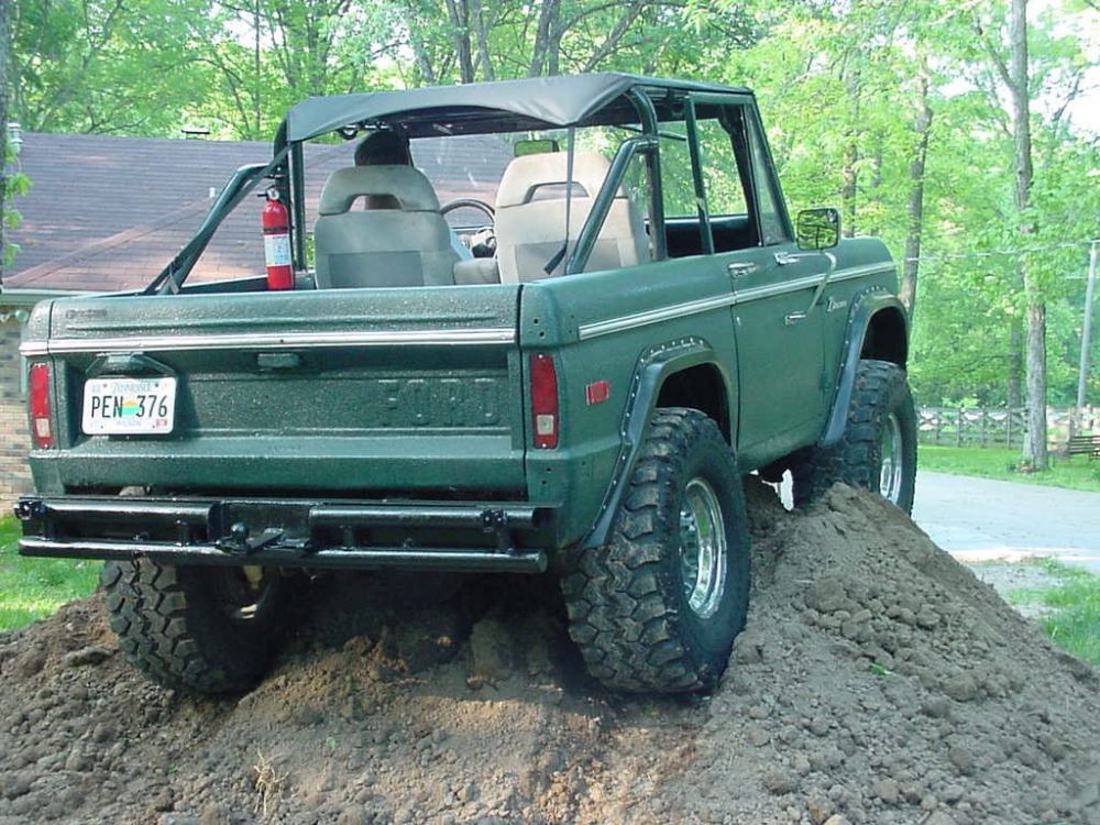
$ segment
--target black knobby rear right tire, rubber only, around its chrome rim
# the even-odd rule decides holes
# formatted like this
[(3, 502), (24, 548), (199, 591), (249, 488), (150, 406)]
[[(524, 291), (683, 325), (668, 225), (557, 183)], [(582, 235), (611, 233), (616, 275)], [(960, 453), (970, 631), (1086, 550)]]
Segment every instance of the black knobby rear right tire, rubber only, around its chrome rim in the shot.
[[(682, 515), (693, 480), (714, 494), (725, 530), (724, 588), (702, 617), (685, 592)], [(713, 689), (745, 626), (749, 537), (745, 494), (717, 425), (659, 409), (604, 547), (578, 550), (561, 581), (570, 636), (588, 672), (628, 692)]]

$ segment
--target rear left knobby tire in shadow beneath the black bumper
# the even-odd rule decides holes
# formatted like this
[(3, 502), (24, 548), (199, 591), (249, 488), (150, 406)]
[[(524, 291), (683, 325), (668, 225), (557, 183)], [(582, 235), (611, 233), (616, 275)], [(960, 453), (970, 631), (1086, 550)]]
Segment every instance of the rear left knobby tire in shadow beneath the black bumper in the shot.
[(244, 691), (264, 674), (287, 627), (278, 571), (107, 562), (111, 629), (127, 658), (166, 688)]

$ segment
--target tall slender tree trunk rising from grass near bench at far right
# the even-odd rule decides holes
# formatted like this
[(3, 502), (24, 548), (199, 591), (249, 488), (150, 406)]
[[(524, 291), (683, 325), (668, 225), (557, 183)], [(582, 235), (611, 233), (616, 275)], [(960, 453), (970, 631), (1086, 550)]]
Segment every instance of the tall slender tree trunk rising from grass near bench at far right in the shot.
[[(1020, 245), (1027, 246), (1034, 227), (1027, 217), (1033, 179), (1031, 101), (1027, 91), (1027, 0), (1012, 0), (1009, 19), (1009, 91), (1012, 98), (1012, 133), (1015, 144), (1016, 209), (1020, 212)], [(1027, 301), (1027, 438), (1024, 460), (1035, 470), (1046, 470), (1046, 304), (1027, 258), (1021, 257), (1024, 296)]]

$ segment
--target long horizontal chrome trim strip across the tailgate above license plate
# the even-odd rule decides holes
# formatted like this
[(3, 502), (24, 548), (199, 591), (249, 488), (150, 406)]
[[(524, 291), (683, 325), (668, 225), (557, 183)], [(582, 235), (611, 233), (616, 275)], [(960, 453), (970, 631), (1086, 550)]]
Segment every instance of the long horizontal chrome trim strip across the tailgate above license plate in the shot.
[(507, 327), (464, 330), (386, 330), (363, 332), (267, 332), (255, 334), (127, 336), (120, 338), (54, 338), (28, 341), (23, 355), (59, 355), (72, 352), (170, 352), (179, 350), (283, 350), (329, 346), (464, 346), (514, 344), (516, 331)]

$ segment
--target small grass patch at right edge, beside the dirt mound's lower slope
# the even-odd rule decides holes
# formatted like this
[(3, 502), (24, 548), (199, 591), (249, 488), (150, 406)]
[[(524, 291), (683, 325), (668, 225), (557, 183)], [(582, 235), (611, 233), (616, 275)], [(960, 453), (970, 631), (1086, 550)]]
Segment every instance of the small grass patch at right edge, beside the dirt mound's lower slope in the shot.
[(1100, 575), (1054, 559), (1024, 563), (1040, 566), (1057, 584), (1041, 590), (1012, 591), (1009, 602), (1045, 607), (1047, 612), (1040, 624), (1054, 644), (1100, 666)]

